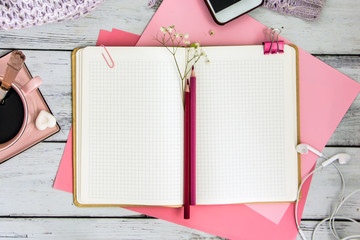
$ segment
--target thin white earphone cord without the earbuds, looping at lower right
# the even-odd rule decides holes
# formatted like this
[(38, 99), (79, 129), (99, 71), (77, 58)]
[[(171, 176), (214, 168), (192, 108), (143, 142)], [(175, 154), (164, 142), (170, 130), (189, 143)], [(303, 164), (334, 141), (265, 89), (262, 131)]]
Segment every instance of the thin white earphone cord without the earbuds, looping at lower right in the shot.
[[(325, 157), (324, 155), (322, 156), (323, 158), (327, 159), (327, 157)], [(357, 223), (360, 225), (359, 222), (357, 222), (356, 220), (352, 219), (352, 218), (348, 218), (348, 217), (335, 217), (335, 214), (339, 211), (339, 209), (341, 208), (341, 206), (345, 203), (345, 201), (347, 201), (352, 195), (354, 195), (355, 193), (357, 192), (360, 192), (360, 189), (357, 189), (355, 191), (353, 191), (352, 193), (350, 193), (347, 197), (343, 197), (344, 196), (344, 192), (345, 192), (345, 179), (344, 179), (344, 176), (342, 174), (342, 172), (340, 171), (339, 167), (336, 166), (335, 163), (332, 163), (332, 165), (336, 168), (336, 170), (338, 171), (339, 175), (340, 175), (340, 178), (341, 178), (341, 182), (342, 182), (342, 186), (341, 186), (341, 195), (340, 195), (340, 202), (339, 204), (335, 207), (334, 211), (332, 212), (331, 216), (328, 217), (328, 218), (325, 218), (323, 219), (321, 222), (319, 222), (314, 231), (313, 231), (313, 234), (312, 234), (312, 237), (311, 239), (314, 240), (315, 239), (315, 234), (316, 234), (316, 231), (318, 230), (318, 228), (320, 227), (320, 225), (326, 221), (329, 221), (329, 228), (331, 230), (331, 233), (333, 234), (333, 236), (338, 239), (338, 240), (350, 240), (350, 239), (355, 239), (355, 238), (360, 238), (360, 235), (351, 235), (351, 236), (347, 236), (345, 238), (342, 238), (340, 239), (338, 233), (336, 232), (336, 228), (335, 228), (335, 220), (336, 219), (341, 219), (341, 220), (348, 220), (348, 221), (351, 221), (351, 222), (354, 222), (354, 223)], [(295, 223), (296, 223), (296, 227), (299, 231), (299, 234), (301, 236), (301, 238), (303, 240), (306, 240), (306, 237), (305, 237), (305, 234), (304, 232), (301, 230), (300, 228), (300, 225), (299, 225), (299, 222), (298, 222), (298, 213), (297, 213), (297, 210), (298, 210), (298, 204), (299, 204), (299, 198), (300, 198), (300, 193), (301, 193), (301, 189), (303, 187), (303, 184), (305, 183), (305, 181), (311, 176), (313, 175), (315, 172), (319, 171), (320, 169), (322, 169), (323, 166), (320, 166), (320, 167), (317, 167), (315, 168), (315, 170), (313, 170), (312, 172), (310, 172), (305, 178), (304, 180), (301, 182), (300, 186), (299, 186), (299, 190), (298, 190), (298, 193), (297, 193), (297, 197), (296, 197), (296, 203), (295, 203)]]

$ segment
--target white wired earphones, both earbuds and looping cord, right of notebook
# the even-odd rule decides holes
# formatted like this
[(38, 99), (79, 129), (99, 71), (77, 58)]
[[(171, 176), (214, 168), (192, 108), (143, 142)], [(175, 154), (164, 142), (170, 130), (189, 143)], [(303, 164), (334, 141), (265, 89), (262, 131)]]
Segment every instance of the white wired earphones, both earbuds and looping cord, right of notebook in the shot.
[[(312, 239), (314, 239), (315, 233), (316, 233), (317, 229), (319, 228), (319, 226), (320, 226), (322, 223), (326, 222), (326, 221), (329, 221), (329, 222), (330, 222), (329, 226), (330, 226), (331, 233), (333, 234), (333, 236), (334, 236), (336, 239), (341, 240), (341, 239), (354, 239), (354, 238), (359, 238), (360, 235), (352, 235), (352, 236), (347, 236), (347, 237), (345, 237), (345, 238), (340, 238), (339, 235), (338, 235), (338, 233), (336, 232), (335, 224), (334, 224), (336, 219), (346, 219), (346, 220), (349, 220), (349, 221), (352, 221), (352, 222), (354, 222), (354, 223), (359, 224), (356, 220), (354, 220), (354, 219), (352, 219), (352, 218), (348, 218), (348, 217), (337, 217), (337, 216), (335, 216), (335, 214), (338, 212), (338, 210), (340, 209), (340, 207), (344, 204), (344, 202), (345, 202), (347, 199), (349, 199), (349, 198), (350, 198), (352, 195), (354, 195), (355, 193), (360, 192), (360, 189), (357, 189), (357, 190), (353, 191), (352, 193), (350, 193), (347, 197), (344, 197), (344, 192), (345, 192), (345, 179), (344, 179), (344, 176), (343, 176), (343, 174), (341, 173), (339, 167), (336, 166), (335, 163), (334, 163), (334, 161), (339, 160), (339, 164), (347, 164), (347, 163), (350, 161), (351, 156), (350, 156), (349, 154), (346, 154), (346, 153), (338, 153), (338, 154), (336, 154), (336, 155), (334, 155), (334, 156), (332, 156), (332, 157), (330, 157), (330, 158), (327, 158), (322, 152), (320, 152), (320, 151), (316, 150), (315, 148), (313, 148), (313, 147), (311, 147), (311, 146), (309, 146), (309, 145), (307, 145), (307, 144), (304, 144), (304, 143), (297, 145), (297, 146), (296, 146), (296, 151), (297, 151), (298, 153), (300, 153), (300, 154), (307, 154), (309, 151), (311, 151), (311, 152), (315, 153), (316, 155), (318, 155), (319, 157), (325, 159), (325, 161), (323, 161), (319, 167), (315, 168), (315, 170), (313, 170), (312, 172), (310, 172), (310, 173), (304, 178), (304, 180), (301, 181), (301, 184), (300, 184), (300, 186), (299, 186), (299, 190), (298, 190), (298, 194), (297, 194), (297, 198), (296, 198), (296, 204), (295, 204), (295, 222), (296, 222), (296, 227), (297, 227), (297, 229), (298, 229), (298, 231), (299, 231), (299, 234), (300, 234), (301, 238), (302, 238), (303, 240), (306, 240), (305, 234), (304, 234), (304, 232), (301, 230), (300, 225), (299, 225), (299, 222), (298, 222), (298, 218), (297, 218), (297, 215), (298, 215), (298, 214), (297, 214), (297, 210), (298, 210), (298, 204), (299, 204), (299, 197), (300, 197), (301, 188), (302, 188), (304, 182), (305, 182), (311, 175), (313, 175), (313, 174), (314, 174), (315, 172), (317, 172), (318, 170), (323, 169), (324, 167), (326, 167), (326, 166), (329, 165), (329, 164), (332, 164), (332, 165), (336, 168), (336, 170), (339, 172), (339, 175), (340, 175), (340, 178), (341, 178), (341, 181), (342, 181), (342, 191), (341, 191), (342, 193), (341, 193), (341, 195), (340, 195), (340, 196), (341, 196), (341, 197), (340, 197), (341, 201), (337, 204), (337, 206), (335, 207), (334, 211), (331, 213), (331, 215), (330, 215), (328, 218), (325, 218), (324, 220), (320, 221), (320, 222), (316, 225), (316, 227), (315, 227), (315, 229), (314, 229), (314, 231), (313, 231), (313, 234), (312, 234)], [(360, 225), (360, 224), (359, 224), (359, 225)]]

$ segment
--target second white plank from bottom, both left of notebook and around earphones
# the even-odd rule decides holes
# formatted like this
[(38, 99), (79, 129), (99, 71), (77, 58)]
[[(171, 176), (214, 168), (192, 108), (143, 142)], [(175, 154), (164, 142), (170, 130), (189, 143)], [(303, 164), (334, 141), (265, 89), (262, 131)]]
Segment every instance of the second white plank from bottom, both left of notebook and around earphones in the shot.
[[(77, 208), (71, 194), (54, 190), (64, 145), (40, 143), (0, 165), (0, 216), (139, 216), (121, 208)], [(328, 148), (325, 153), (331, 156), (342, 151), (353, 156), (349, 165), (341, 166), (349, 193), (360, 187), (360, 149)], [(331, 166), (315, 175), (303, 217), (326, 217), (339, 191), (340, 181)], [(360, 219), (358, 199), (346, 203), (341, 214)]]

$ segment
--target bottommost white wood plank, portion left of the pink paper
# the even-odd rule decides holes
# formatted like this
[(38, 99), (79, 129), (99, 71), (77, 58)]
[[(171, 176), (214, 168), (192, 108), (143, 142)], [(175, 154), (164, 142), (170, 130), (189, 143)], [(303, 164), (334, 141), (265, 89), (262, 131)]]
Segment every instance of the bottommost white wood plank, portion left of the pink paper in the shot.
[(221, 239), (159, 219), (0, 218), (0, 239)]

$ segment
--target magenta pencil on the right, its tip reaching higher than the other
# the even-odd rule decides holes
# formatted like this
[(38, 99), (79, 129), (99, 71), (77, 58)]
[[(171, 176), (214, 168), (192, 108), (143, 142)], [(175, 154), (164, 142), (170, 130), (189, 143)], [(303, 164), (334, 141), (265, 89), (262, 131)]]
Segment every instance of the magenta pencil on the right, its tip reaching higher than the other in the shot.
[(196, 76), (190, 77), (190, 205), (196, 205)]

